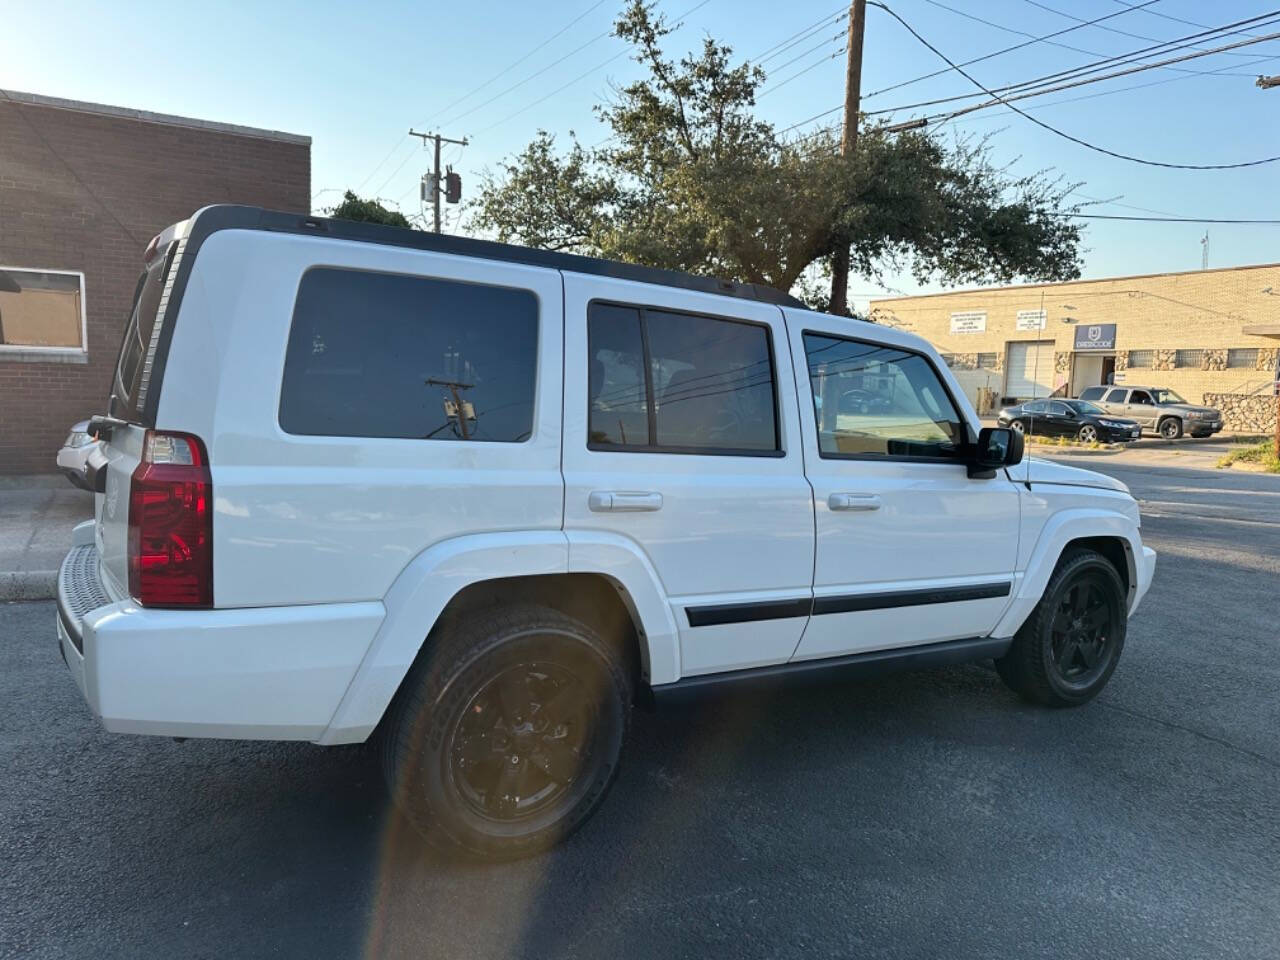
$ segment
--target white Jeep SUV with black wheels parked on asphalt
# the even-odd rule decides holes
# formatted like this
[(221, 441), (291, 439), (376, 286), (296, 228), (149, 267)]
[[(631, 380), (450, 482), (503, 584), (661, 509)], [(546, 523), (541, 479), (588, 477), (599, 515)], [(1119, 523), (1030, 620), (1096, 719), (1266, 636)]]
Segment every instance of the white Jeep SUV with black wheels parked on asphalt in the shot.
[(929, 344), (776, 291), (206, 207), (146, 253), (60, 648), (111, 731), (376, 732), (429, 838), (516, 856), (636, 701), (989, 658), (1094, 696), (1138, 507), (978, 426)]

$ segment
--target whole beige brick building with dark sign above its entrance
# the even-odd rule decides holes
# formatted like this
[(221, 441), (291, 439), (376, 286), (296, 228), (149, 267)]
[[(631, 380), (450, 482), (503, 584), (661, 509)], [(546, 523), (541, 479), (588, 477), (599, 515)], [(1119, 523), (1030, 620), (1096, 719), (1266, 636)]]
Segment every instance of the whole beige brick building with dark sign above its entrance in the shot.
[(983, 389), (1000, 403), (1115, 381), (1167, 387), (1224, 412), (1240, 406), (1224, 397), (1256, 397), (1243, 408), (1257, 407), (1263, 429), (1272, 422), (1280, 264), (988, 287), (870, 307), (878, 323), (933, 343), (979, 410)]

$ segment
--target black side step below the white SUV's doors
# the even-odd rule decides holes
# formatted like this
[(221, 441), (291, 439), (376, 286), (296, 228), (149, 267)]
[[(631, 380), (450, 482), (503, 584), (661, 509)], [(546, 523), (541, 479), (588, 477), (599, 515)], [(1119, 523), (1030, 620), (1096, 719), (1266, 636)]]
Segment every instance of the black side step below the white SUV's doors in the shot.
[[(786, 684), (829, 684), (842, 680), (874, 677), (904, 669), (931, 669), (956, 663), (1004, 657), (1009, 650), (1009, 637), (974, 637), (947, 640), (941, 644), (922, 644), (896, 650), (872, 650), (845, 657), (827, 657), (817, 660), (778, 663), (772, 667), (753, 667), (726, 673), (705, 673), (685, 677), (675, 684), (650, 687), (653, 705), (684, 703), (700, 696), (739, 690), (764, 689)], [(645, 698), (648, 699), (648, 698)]]

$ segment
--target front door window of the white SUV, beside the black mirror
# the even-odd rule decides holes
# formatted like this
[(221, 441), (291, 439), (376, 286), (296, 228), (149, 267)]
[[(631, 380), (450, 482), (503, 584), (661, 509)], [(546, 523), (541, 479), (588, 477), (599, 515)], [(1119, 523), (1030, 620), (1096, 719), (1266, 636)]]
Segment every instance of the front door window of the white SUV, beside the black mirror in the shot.
[(924, 357), (812, 333), (804, 346), (822, 456), (959, 453), (964, 424)]

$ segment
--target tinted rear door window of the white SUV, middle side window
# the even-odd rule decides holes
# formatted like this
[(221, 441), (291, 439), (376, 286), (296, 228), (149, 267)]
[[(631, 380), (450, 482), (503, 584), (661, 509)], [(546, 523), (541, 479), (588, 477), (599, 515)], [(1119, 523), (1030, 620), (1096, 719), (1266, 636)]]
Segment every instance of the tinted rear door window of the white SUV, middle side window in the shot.
[(769, 332), (694, 314), (591, 303), (591, 447), (681, 453), (780, 449)]

